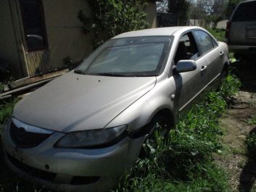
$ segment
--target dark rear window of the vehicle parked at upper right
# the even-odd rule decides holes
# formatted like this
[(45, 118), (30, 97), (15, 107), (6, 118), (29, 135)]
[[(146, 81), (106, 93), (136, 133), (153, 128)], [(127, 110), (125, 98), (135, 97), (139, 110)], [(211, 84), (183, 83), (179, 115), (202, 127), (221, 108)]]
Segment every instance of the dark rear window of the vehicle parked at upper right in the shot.
[(236, 21), (256, 21), (256, 1), (239, 4), (232, 18)]

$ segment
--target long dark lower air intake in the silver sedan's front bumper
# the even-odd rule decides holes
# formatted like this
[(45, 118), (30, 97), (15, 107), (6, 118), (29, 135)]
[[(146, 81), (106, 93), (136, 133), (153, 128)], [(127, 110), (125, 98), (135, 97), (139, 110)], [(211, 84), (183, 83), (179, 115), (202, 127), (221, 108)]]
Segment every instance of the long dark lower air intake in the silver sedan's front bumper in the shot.
[(42, 179), (42, 180), (53, 181), (54, 178), (57, 175), (54, 172), (47, 172), (47, 171), (43, 171), (43, 170), (38, 170), (34, 167), (30, 167), (28, 164), (24, 164), (24, 163), (18, 161), (17, 159), (12, 157), (8, 153), (7, 153), (7, 157), (9, 159), (9, 161), (12, 162), (12, 164), (15, 165), (15, 167), (17, 167), (19, 170), (22, 170), (23, 172), (28, 173), (29, 175), (32, 175), (35, 178), (39, 178), (39, 179)]

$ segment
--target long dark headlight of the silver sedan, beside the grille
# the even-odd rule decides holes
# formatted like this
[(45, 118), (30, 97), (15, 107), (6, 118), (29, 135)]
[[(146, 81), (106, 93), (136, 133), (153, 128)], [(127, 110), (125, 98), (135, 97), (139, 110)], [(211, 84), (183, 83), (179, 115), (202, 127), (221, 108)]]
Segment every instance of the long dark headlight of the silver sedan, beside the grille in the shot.
[(111, 146), (125, 138), (126, 125), (101, 130), (67, 133), (54, 145), (57, 148), (94, 149)]

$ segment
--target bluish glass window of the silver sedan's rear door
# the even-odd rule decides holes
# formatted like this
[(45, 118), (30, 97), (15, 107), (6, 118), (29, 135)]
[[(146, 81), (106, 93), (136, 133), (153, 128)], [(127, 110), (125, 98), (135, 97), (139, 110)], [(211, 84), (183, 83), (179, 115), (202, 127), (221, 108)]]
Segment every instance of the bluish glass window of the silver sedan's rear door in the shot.
[(197, 43), (199, 46), (199, 49), (201, 49), (202, 54), (207, 53), (210, 51), (210, 49), (214, 48), (214, 45), (212, 43), (212, 38), (205, 33), (205, 31), (202, 30), (195, 30), (194, 35), (197, 39)]

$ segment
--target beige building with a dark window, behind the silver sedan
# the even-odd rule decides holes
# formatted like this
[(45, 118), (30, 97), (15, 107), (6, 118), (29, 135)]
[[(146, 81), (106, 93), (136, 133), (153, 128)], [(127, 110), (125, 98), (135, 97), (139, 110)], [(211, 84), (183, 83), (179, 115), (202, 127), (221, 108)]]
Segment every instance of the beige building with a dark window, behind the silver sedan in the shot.
[[(92, 35), (78, 20), (80, 9), (91, 14), (86, 0), (1, 0), (0, 58), (15, 78), (63, 66), (63, 59), (79, 61), (93, 51)], [(147, 20), (157, 26), (156, 3), (149, 1)]]

